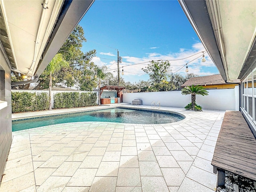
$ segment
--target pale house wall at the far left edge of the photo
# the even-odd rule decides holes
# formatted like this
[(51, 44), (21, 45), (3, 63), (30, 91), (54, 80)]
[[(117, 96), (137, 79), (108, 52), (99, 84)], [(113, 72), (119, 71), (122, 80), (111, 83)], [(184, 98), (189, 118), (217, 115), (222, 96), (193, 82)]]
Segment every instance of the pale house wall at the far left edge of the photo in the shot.
[[(10, 68), (0, 50), (0, 95), (7, 106), (0, 109), (0, 180), (4, 172), (8, 153), (12, 143), (12, 98)], [(4, 77), (3, 77), (4, 75)]]

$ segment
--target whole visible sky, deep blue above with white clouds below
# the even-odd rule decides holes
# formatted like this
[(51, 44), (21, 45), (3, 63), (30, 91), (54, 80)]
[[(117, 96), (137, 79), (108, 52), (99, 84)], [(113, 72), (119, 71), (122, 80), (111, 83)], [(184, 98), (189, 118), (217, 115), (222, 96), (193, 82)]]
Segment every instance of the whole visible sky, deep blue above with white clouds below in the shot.
[(181, 67), (194, 60), (189, 72), (219, 74), (207, 53), (201, 62), (205, 49), (176, 0), (96, 0), (79, 24), (87, 39), (82, 50), (96, 49), (95, 64), (106, 65), (115, 76), (119, 50), (125, 81), (148, 80), (141, 68), (149, 63), (139, 63), (151, 60), (176, 60), (170, 61), (170, 72), (182, 75), (186, 68)]

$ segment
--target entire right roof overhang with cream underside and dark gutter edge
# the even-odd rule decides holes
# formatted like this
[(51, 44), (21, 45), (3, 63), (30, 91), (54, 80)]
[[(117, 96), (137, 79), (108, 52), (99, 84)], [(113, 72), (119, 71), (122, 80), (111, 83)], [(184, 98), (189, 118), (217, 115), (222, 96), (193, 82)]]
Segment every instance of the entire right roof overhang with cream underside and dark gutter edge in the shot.
[(256, 1), (179, 2), (225, 81), (256, 67)]

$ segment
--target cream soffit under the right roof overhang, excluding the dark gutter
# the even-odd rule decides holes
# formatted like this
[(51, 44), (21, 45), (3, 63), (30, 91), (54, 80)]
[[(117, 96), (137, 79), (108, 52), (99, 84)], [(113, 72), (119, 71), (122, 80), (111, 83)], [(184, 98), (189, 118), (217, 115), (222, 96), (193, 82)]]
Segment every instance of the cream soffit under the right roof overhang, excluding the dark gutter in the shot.
[(256, 35), (256, 1), (206, 1), (228, 79), (237, 79)]

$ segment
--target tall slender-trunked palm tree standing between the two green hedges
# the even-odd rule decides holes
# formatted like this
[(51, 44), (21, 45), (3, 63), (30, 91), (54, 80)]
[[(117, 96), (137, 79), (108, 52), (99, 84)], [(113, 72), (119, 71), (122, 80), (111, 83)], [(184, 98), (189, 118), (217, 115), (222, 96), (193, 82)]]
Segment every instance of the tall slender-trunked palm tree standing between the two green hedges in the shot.
[(62, 68), (68, 67), (68, 62), (64, 59), (61, 53), (58, 53), (50, 61), (46, 67), (46, 72), (49, 74), (49, 110), (52, 110), (52, 74), (59, 72)]

